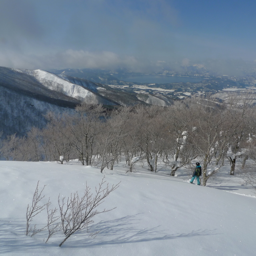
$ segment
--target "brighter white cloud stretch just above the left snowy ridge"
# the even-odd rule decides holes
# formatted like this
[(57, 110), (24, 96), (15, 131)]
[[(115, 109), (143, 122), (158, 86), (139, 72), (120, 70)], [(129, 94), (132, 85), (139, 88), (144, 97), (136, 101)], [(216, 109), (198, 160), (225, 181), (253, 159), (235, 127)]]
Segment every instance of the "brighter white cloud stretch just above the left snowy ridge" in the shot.
[(65, 50), (54, 54), (22, 54), (15, 51), (0, 52), (0, 66), (25, 69), (48, 68), (138, 68), (133, 56), (119, 56), (114, 52)]

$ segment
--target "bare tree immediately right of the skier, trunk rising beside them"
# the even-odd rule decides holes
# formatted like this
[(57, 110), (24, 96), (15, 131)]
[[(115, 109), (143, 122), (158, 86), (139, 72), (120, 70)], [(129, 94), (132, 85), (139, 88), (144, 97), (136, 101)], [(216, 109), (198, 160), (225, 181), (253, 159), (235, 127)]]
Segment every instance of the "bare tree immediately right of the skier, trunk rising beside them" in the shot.
[[(202, 163), (202, 185), (206, 186), (207, 180), (219, 170), (216, 165), (218, 161), (216, 156), (220, 159), (224, 154), (222, 145), (226, 145), (226, 142), (222, 140), (227, 134), (223, 131), (228, 122), (229, 113), (225, 111), (224, 105), (218, 104), (218, 101), (210, 96), (193, 97), (190, 109), (196, 114), (190, 127), (190, 135)], [(220, 141), (222, 141), (221, 144)], [(208, 172), (207, 168), (210, 165), (215, 167)]]

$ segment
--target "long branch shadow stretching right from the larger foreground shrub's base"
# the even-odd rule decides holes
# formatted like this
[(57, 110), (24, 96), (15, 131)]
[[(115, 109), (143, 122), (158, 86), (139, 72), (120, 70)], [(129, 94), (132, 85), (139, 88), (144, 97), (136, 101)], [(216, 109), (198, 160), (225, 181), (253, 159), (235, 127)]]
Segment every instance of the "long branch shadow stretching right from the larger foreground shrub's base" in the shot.
[[(85, 233), (80, 232), (76, 234), (76, 241), (67, 241), (67, 247), (94, 247), (111, 244), (147, 242), (153, 240), (169, 240), (175, 238), (185, 238), (192, 236), (210, 236), (216, 235), (215, 230), (192, 230), (190, 233), (176, 233), (168, 234), (168, 230), (161, 230), (160, 226), (153, 228), (139, 228), (136, 224), (140, 220), (136, 218), (138, 214), (133, 216), (125, 216), (123, 218), (101, 221), (98, 224), (92, 225), (90, 232), (96, 233), (96, 238), (84, 238)], [(79, 236), (83, 236), (79, 239)], [(63, 245), (63, 247), (65, 246)]]

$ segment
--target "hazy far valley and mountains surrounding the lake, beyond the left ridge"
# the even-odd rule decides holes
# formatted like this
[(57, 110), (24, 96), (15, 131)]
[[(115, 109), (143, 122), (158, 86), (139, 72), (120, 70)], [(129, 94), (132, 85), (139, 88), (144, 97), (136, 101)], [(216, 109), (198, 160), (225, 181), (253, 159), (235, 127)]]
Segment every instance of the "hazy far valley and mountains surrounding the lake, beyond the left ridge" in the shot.
[[(208, 66), (210, 66), (208, 64)], [(180, 99), (196, 93), (218, 93), (222, 90), (241, 90), (254, 88), (256, 85), (256, 72), (255, 70), (244, 71), (239, 70), (239, 74), (243, 73), (243, 76), (217, 75), (216, 72), (210, 72), (209, 68), (202, 64), (193, 64), (190, 66), (181, 66), (179, 71), (176, 70), (162, 70), (162, 72), (154, 73), (168, 76), (185, 76), (190, 78), (202, 78), (200, 82), (172, 82), (165, 84), (153, 84), (153, 83), (139, 83), (139, 82), (124, 82), (117, 77), (130, 76), (131, 72), (128, 70), (92, 70), (92, 69), (62, 69), (52, 70), (54, 74), (66, 74), (73, 77), (86, 78), (90, 81), (100, 81), (111, 88), (123, 90), (125, 92), (136, 92), (138, 98), (145, 98), (144, 95), (148, 95), (146, 102), (150, 102), (152, 95), (154, 97), (165, 96), (165, 100)], [(242, 70), (242, 71), (241, 71)], [(142, 75), (139, 74), (138, 75)], [(145, 74), (144, 74), (145, 75)], [(121, 78), (122, 79), (122, 78)], [(158, 103), (159, 104), (159, 103)]]

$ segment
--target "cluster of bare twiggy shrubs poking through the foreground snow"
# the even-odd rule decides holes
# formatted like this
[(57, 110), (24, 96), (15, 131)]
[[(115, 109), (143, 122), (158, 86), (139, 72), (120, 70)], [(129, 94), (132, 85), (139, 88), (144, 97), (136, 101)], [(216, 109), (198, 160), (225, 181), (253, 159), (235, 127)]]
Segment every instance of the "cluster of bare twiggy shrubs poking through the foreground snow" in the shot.
[[(98, 206), (102, 204), (104, 199), (119, 186), (119, 183), (109, 186), (109, 184), (106, 184), (105, 177), (103, 177), (99, 186), (95, 188), (95, 193), (92, 193), (91, 188), (86, 183), (83, 196), (79, 196), (78, 192), (71, 194), (67, 199), (64, 197), (60, 200), (59, 196), (58, 205), (60, 215), (57, 215), (57, 208), (50, 209), (49, 207), (51, 204), (50, 198), (48, 203), (40, 205), (41, 200), (44, 198), (44, 196), (42, 196), (42, 192), (45, 186), (39, 192), (38, 184), (39, 181), (34, 192), (32, 205), (28, 205), (27, 207), (26, 235), (33, 236), (34, 234), (47, 229), (48, 238), (46, 239), (46, 242), (48, 242), (51, 236), (62, 230), (65, 238), (62, 240), (59, 246), (62, 246), (62, 244), (64, 244), (64, 242), (76, 231), (84, 229), (88, 230), (88, 225), (94, 222), (92, 218), (95, 215), (113, 210), (114, 208), (110, 210), (98, 210)], [(44, 228), (37, 229), (36, 225), (34, 225), (34, 228), (31, 228), (33, 217), (40, 214), (40, 212), (42, 212), (45, 208), (47, 209), (48, 216), (46, 226), (44, 226)]]

